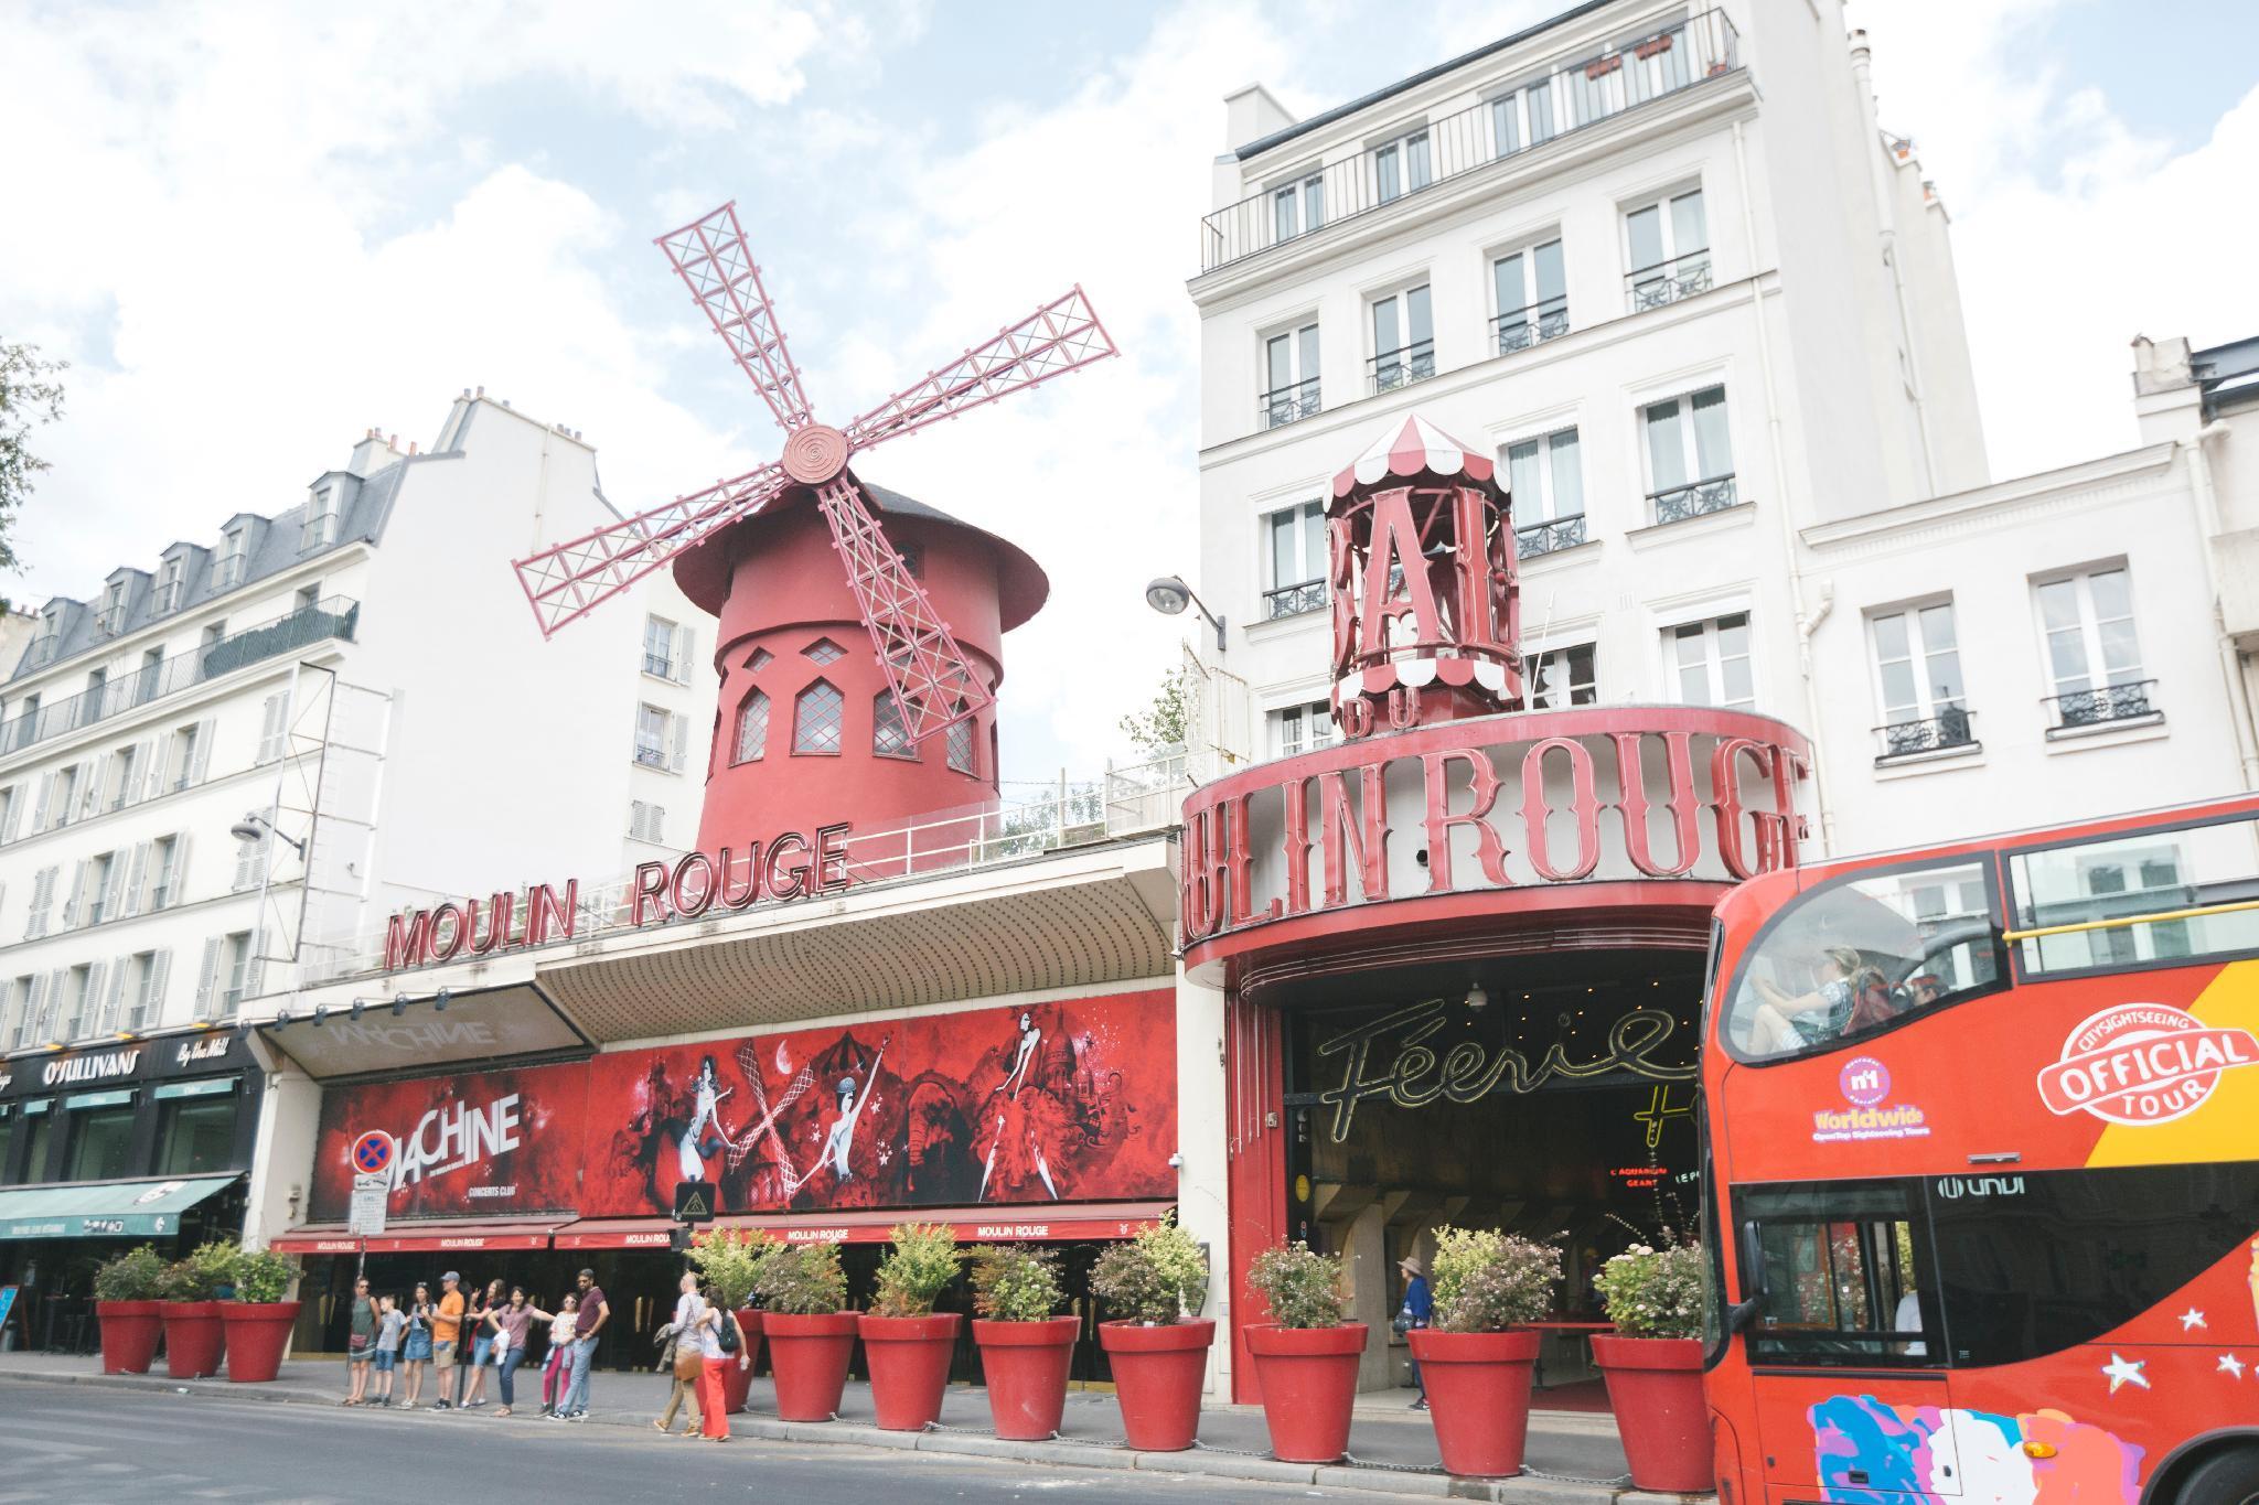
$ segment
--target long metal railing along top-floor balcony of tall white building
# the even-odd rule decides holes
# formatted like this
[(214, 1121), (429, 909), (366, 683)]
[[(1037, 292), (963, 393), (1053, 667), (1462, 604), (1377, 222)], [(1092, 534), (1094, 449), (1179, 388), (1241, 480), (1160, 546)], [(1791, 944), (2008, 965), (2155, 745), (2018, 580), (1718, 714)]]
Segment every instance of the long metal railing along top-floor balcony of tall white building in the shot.
[[(1739, 36), (1724, 11), (1697, 11), (1602, 52), (1575, 52), (1538, 63), (1523, 74), (1525, 86), (1518, 95), (1507, 97), (1502, 111), (1500, 102), (1484, 99), (1428, 122), (1425, 181), (1403, 171), (1405, 162), (1398, 158), (1389, 158), (1396, 171), (1383, 165), (1383, 153), (1396, 149), (1401, 156), (1403, 138), (1398, 138), (1398, 142), (1326, 162), (1319, 171), (1299, 174), (1299, 192), (1306, 201), (1315, 199), (1324, 205), (1319, 212), (1281, 214), (1274, 196), (1285, 185), (1272, 185), (1202, 217), (1200, 271), (1215, 271), (1258, 250), (1322, 235), (1385, 203), (1416, 199), (1439, 183), (1450, 183), (1554, 138), (1667, 99), (1739, 65)], [(1543, 88), (1538, 88), (1541, 83)], [(1523, 126), (1520, 102), (1525, 99), (1532, 108), (1543, 108), (1547, 117)], [(1414, 181), (1407, 183), (1407, 178)], [(1315, 196), (1308, 190), (1310, 181), (1317, 183)], [(1392, 187), (1394, 192), (1389, 192)]]

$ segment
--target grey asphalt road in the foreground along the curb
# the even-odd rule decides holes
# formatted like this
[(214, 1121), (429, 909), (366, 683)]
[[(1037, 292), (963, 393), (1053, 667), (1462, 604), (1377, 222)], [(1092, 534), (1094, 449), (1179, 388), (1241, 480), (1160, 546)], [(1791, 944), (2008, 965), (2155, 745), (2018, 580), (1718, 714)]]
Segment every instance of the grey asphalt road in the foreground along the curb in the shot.
[(16, 1500), (682, 1500), (795, 1505), (926, 1500), (1186, 1500), (1281, 1505), (1344, 1498), (1290, 1485), (1111, 1473), (858, 1446), (734, 1437), (678, 1442), (623, 1426), (495, 1424), (131, 1394), (88, 1385), (0, 1388), (0, 1505)]

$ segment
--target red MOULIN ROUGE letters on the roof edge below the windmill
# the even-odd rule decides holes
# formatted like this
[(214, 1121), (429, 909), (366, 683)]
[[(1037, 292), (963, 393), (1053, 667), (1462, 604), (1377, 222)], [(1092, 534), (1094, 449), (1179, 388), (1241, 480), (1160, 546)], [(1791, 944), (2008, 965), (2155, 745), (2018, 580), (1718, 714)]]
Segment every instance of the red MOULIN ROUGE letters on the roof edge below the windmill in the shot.
[[(838, 894), (847, 887), (847, 833), (852, 824), (818, 826), (815, 839), (786, 830), (770, 842), (750, 842), (745, 853), (684, 853), (675, 862), (642, 862), (628, 884), (628, 923), (664, 925), (696, 918), (714, 907), (750, 909), (759, 903), (791, 903)], [(447, 900), (429, 909), (395, 914), (384, 925), (384, 970), (427, 961), (488, 957), (524, 945), (569, 941), (581, 918), (581, 880), (562, 887), (533, 884), (520, 894)]]

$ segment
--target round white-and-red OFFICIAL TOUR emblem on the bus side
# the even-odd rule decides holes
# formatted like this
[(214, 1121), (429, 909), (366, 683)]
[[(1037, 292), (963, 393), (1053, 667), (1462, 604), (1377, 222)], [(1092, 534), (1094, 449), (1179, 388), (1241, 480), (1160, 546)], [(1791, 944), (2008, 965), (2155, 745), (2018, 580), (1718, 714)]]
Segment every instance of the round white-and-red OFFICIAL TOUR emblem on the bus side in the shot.
[(2221, 1072), (2259, 1065), (2248, 1029), (2214, 1029), (2171, 1004), (2112, 1004), (2062, 1040), (2062, 1058), (2040, 1067), (2049, 1112), (2092, 1112), (2148, 1128), (2205, 1106)]

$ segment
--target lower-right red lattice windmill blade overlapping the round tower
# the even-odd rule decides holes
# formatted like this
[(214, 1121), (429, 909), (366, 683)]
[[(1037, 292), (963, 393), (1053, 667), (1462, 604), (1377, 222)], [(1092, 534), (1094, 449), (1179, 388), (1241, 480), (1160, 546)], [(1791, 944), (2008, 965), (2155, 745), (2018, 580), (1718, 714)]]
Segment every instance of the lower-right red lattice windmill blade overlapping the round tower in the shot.
[(879, 528), (879, 512), (856, 478), (840, 472), (825, 481), (815, 503), (831, 523), (831, 539), (847, 566), (847, 589), (863, 611), (870, 645), (895, 690), (895, 704), (901, 706), (910, 742), (987, 706), (994, 697), (949, 636), (949, 623), (933, 609), (926, 587)]

